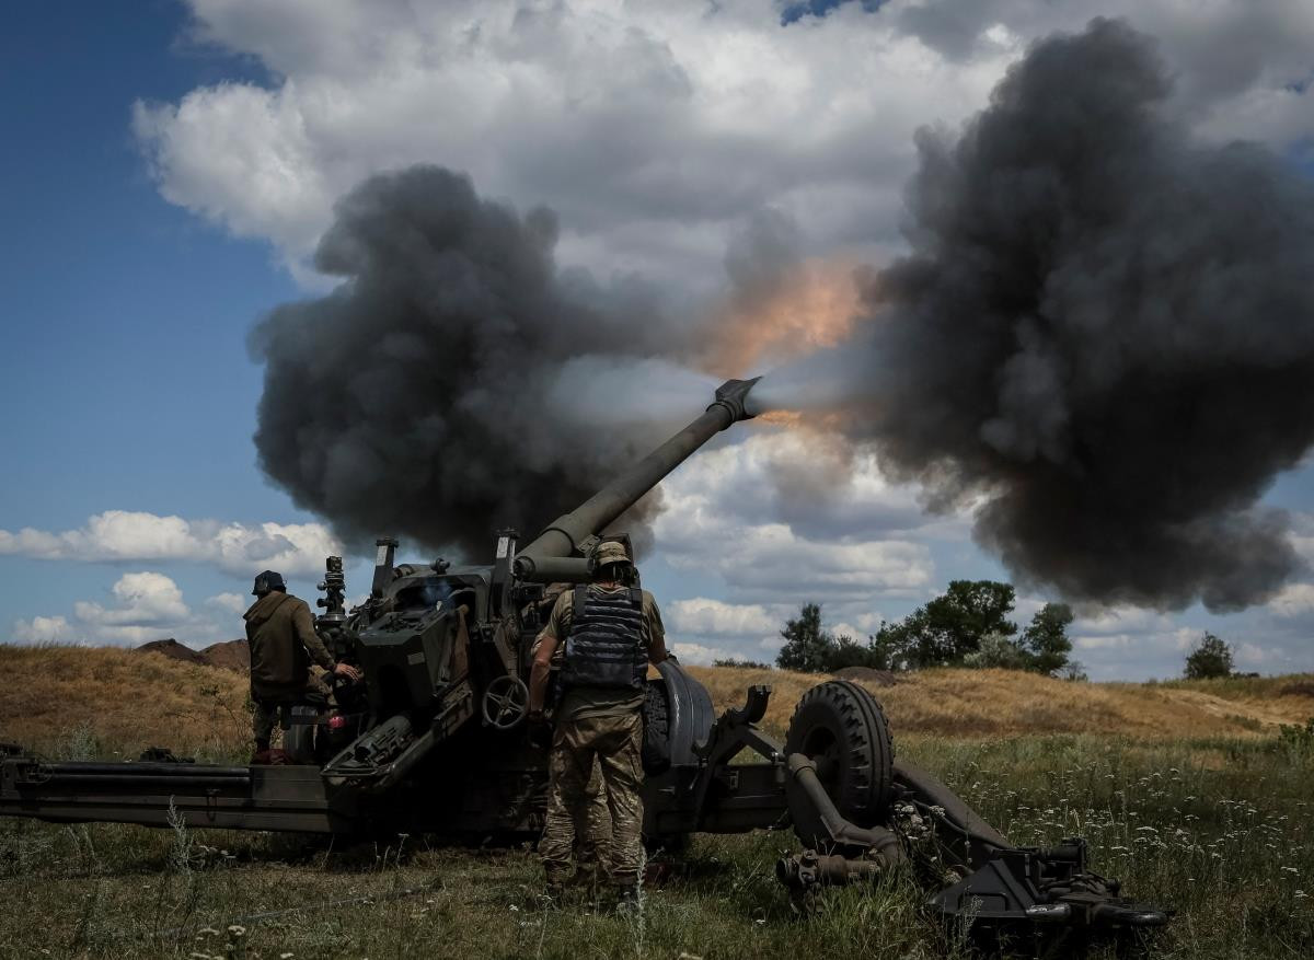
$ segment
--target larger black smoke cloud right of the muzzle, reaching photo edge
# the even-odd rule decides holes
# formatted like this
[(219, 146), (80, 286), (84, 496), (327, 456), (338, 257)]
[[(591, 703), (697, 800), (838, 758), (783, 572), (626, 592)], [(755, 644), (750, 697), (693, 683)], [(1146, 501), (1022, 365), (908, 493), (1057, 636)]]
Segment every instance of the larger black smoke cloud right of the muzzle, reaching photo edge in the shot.
[[(1155, 45), (1049, 38), (958, 135), (922, 131), (911, 253), (841, 376), (883, 465), (1071, 599), (1215, 611), (1298, 567), (1257, 506), (1314, 441), (1314, 189), (1194, 142)], [(816, 368), (813, 368), (816, 369)]]

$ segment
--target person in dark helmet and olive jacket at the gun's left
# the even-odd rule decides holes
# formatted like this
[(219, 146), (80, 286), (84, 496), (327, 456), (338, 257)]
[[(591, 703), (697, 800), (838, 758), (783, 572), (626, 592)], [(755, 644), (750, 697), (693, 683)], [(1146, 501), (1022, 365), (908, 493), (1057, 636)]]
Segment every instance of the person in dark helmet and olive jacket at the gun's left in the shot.
[(265, 570), (255, 578), (251, 594), (258, 598), (243, 619), (251, 644), (251, 700), (255, 753), (252, 762), (268, 756), (269, 737), (279, 722), (279, 708), (326, 696), (323, 680), (310, 672), (314, 661), (325, 670), (360, 679), (360, 671), (347, 663), (334, 663), (315, 633), (310, 607), (288, 592), (283, 574)]

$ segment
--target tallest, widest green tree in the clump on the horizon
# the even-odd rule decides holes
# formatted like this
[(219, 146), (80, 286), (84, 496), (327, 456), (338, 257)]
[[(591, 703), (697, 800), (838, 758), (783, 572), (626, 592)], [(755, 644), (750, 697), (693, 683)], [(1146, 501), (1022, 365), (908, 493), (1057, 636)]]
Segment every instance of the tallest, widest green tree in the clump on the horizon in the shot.
[(992, 633), (1012, 637), (1017, 624), (1013, 584), (996, 580), (953, 580), (949, 590), (897, 624), (882, 624), (872, 646), (887, 653), (891, 668), (963, 663)]

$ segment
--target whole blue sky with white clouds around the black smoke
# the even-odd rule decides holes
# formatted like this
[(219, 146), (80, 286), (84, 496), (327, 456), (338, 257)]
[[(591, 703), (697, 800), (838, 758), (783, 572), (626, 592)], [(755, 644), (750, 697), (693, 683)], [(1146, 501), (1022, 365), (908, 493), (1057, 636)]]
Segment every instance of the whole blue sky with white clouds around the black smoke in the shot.
[[(912, 131), (961, 122), (1031, 38), (1096, 12), (1066, 0), (803, 7), (735, 0), (704, 16), (692, 3), (618, 4), (520, 18), (464, 0), (445, 16), (392, 0), (11, 11), (0, 34), (0, 538), (33, 535), (0, 550), (0, 630), (39, 638), (38, 619), (62, 619), (63, 640), (229, 638), (250, 575), (277, 556), (292, 558), (293, 590), (313, 592), (327, 535), (255, 465), (261, 369), (246, 338), (271, 307), (325, 289), (310, 251), (332, 201), (364, 176), (417, 162), (469, 171), (486, 196), (551, 204), (564, 264), (640, 271), (716, 302), (725, 251), (766, 204), (796, 222), (808, 269), (897, 252)], [(1167, 3), (1096, 7), (1162, 38), (1204, 135), (1261, 139), (1293, 158), (1311, 142), (1314, 114), (1293, 80), (1310, 71), (1310, 38), (1289, 16), (1298, 4), (1263, 4), (1244, 43), (1229, 39), (1222, 7), (1190, 24)], [(474, 22), (485, 46), (466, 42)], [(1233, 62), (1250, 63), (1234, 85), (1193, 84), (1229, 43)], [(599, 137), (670, 137), (678, 173), (608, 167), (628, 155)], [(673, 478), (670, 500), (715, 513), (707, 490), (761, 481), (794, 456), (766, 428), (725, 437)], [(912, 491), (859, 479), (901, 517), (865, 540), (798, 524), (782, 533), (769, 515), (728, 535), (699, 528), (695, 512), (658, 523), (645, 583), (691, 658), (770, 658), (775, 624), (807, 599), (861, 633), (951, 578), (1004, 577), (964, 520), (926, 519)], [(1305, 524), (1311, 489), (1305, 469), (1279, 478), (1269, 500)], [(87, 527), (108, 511), (124, 513), (110, 517), (113, 536)], [(1314, 525), (1294, 533), (1314, 544)], [(844, 588), (809, 578), (807, 559), (795, 582), (753, 580), (710, 553), (717, 536), (866, 566)], [(771, 558), (744, 563), (766, 570)], [(357, 588), (365, 566), (352, 567)], [(1043, 599), (1024, 591), (1024, 619)], [(1101, 678), (1163, 676), (1205, 628), (1248, 645), (1246, 668), (1314, 668), (1314, 584), (1230, 617), (1092, 611), (1079, 657)]]

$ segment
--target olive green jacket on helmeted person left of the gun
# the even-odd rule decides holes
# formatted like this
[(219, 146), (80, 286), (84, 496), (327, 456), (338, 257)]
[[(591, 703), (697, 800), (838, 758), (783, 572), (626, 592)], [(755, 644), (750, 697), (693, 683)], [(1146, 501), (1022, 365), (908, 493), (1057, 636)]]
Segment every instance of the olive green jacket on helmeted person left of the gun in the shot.
[(290, 594), (271, 591), (251, 604), (243, 617), (251, 644), (251, 697), (294, 697), (310, 682), (310, 663), (332, 670), (334, 662), (310, 607)]

